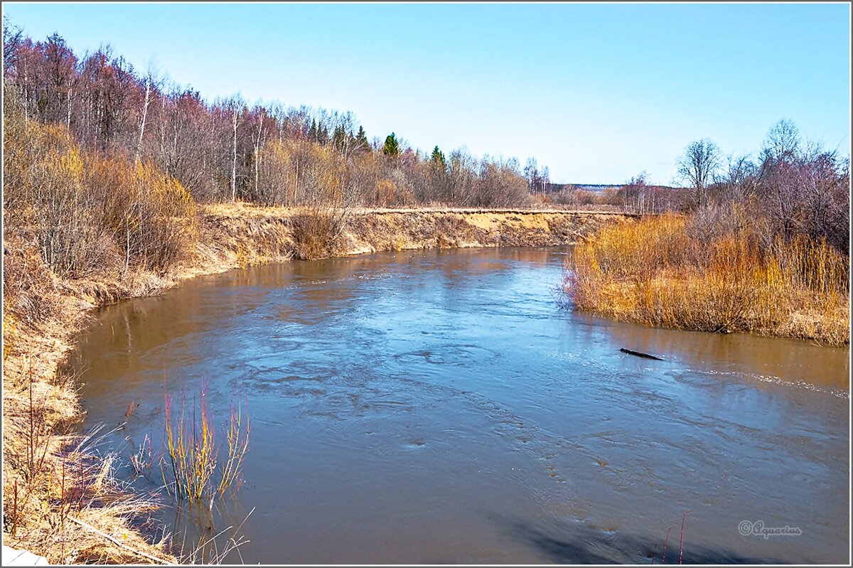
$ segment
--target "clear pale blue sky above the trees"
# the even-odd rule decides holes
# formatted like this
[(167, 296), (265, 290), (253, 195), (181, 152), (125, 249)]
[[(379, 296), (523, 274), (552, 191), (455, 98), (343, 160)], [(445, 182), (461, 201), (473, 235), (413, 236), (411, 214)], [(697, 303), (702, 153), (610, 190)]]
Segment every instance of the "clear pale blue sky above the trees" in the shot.
[(693, 139), (792, 119), (850, 154), (846, 4), (22, 4), (33, 39), (110, 43), (211, 100), (350, 110), (415, 148), (535, 156), (566, 183), (670, 183)]

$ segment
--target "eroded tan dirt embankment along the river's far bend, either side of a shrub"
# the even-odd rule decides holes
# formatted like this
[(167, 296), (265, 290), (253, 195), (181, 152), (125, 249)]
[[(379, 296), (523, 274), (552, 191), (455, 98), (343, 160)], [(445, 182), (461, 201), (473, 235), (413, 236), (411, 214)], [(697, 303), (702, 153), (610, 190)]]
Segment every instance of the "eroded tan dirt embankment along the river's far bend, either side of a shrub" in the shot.
[[(293, 258), (294, 209), (211, 206), (204, 212), (201, 264), (232, 266)], [(612, 212), (477, 209), (364, 209), (348, 212), (331, 252), (474, 246), (555, 246), (577, 242), (608, 223), (632, 218)]]

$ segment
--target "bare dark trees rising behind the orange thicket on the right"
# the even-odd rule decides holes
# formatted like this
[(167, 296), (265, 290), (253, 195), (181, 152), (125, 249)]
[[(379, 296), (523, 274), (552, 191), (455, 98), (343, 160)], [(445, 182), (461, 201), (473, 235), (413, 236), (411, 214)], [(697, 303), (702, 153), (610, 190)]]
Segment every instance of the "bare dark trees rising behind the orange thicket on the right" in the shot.
[(701, 232), (748, 225), (767, 242), (805, 235), (850, 254), (850, 156), (804, 141), (791, 120), (769, 130), (755, 157), (726, 156), (701, 139), (677, 163), (690, 188), (682, 208), (693, 212)]

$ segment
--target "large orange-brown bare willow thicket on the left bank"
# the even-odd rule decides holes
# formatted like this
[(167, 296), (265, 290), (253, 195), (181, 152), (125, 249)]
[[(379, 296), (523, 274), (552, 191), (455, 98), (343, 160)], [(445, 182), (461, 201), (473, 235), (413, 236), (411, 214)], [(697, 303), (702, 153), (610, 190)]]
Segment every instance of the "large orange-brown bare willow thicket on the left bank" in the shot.
[[(65, 125), (4, 101), (4, 227), (38, 244), (49, 269), (80, 276), (118, 264), (165, 270), (194, 230), (195, 206), (154, 165), (81, 154)], [(32, 238), (31, 238), (32, 237)]]

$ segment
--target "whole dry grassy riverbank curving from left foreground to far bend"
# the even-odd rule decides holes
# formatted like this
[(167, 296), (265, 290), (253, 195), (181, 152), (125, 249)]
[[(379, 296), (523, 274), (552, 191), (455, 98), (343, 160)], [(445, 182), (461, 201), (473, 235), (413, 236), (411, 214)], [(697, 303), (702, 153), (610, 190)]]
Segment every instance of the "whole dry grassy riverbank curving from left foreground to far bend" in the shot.
[(254, 264), (386, 250), (564, 245), (629, 219), (611, 212), (205, 206), (189, 250), (169, 270), (105, 265), (75, 279), (48, 270), (26, 235), (4, 235), (4, 543), (51, 563), (177, 561), (143, 523), (153, 497), (113, 481), (117, 463), (96, 457), (96, 439), (67, 436), (84, 410), (74, 378), (58, 376), (57, 368), (90, 310)]

